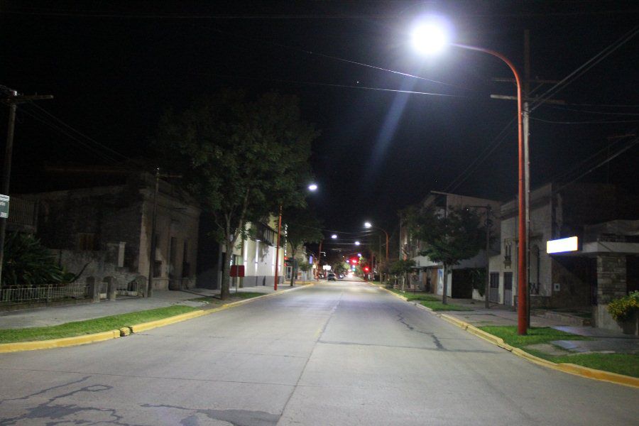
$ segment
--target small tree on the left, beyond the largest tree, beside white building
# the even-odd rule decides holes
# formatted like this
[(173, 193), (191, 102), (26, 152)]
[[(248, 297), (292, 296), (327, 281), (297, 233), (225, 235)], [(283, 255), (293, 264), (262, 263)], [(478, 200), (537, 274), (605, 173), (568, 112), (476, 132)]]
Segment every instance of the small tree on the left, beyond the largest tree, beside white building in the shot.
[[(308, 209), (290, 208), (283, 212), (286, 221), (286, 238), (290, 244), (290, 257), (295, 259), (297, 251), (304, 244), (319, 243), (324, 238), (322, 223)], [(297, 261), (293, 263), (293, 273), (290, 275), (290, 286), (295, 285), (297, 276)]]

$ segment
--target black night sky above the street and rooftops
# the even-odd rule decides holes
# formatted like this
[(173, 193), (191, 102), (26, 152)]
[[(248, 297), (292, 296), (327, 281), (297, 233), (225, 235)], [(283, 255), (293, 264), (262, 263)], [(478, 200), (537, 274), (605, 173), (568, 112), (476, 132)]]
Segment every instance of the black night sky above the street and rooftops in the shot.
[[(243, 87), (297, 94), (305, 119), (321, 129), (312, 157), (320, 192), (311, 203), (328, 229), (356, 231), (369, 219), (391, 230), (397, 210), (430, 190), (507, 200), (516, 192), (515, 125), (507, 126), (515, 102), (490, 94), (515, 94), (513, 84), (492, 80), (510, 71), (467, 50), (417, 55), (410, 28), (426, 12), (447, 16), (456, 42), (498, 50), (522, 72), (528, 28), (533, 78), (562, 80), (617, 47), (555, 96), (567, 104), (532, 112), (533, 186), (576, 178), (632, 142), (611, 136), (637, 133), (639, 35), (616, 45), (639, 24), (632, 1), (216, 3), (0, 1), (0, 84), (55, 95), (38, 102), (46, 112), (27, 105), (18, 115), (12, 187), (38, 182), (43, 160), (121, 160), (105, 158), (65, 124), (136, 157), (145, 155), (164, 109)], [(638, 157), (638, 148), (629, 148), (581, 180), (635, 190)]]

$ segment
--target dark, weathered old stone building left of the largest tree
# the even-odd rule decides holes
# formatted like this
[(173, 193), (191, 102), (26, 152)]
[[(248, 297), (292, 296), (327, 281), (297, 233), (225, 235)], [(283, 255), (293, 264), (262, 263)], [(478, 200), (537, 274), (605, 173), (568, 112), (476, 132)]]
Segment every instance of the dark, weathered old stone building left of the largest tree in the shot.
[[(68, 271), (82, 271), (81, 280), (112, 277), (125, 287), (143, 283), (138, 288), (141, 292), (149, 274), (155, 177), (125, 170), (108, 172), (101, 186), (20, 197), (38, 202), (36, 236)], [(82, 173), (77, 176), (82, 181)], [(153, 288), (192, 288), (200, 207), (164, 180), (159, 181), (156, 202)]]

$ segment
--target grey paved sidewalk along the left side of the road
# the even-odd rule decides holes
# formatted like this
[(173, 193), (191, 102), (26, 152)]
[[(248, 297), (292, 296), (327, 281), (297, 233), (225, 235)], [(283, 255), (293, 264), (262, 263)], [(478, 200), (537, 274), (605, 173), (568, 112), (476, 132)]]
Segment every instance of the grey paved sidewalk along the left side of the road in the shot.
[[(302, 285), (300, 283), (300, 285)], [(297, 287), (297, 285), (296, 285)], [(288, 283), (278, 285), (278, 293), (288, 290)], [(231, 288), (231, 297), (236, 289)], [(239, 293), (275, 293), (273, 285), (239, 288)], [(0, 329), (16, 329), (26, 327), (48, 327), (67, 322), (92, 320), (109, 315), (120, 315), (129, 312), (155, 309), (173, 305), (207, 307), (206, 302), (193, 299), (198, 297), (219, 297), (219, 290), (193, 288), (190, 290), (154, 290), (153, 297), (118, 297), (117, 300), (102, 300), (99, 303), (66, 305), (55, 307), (38, 307), (28, 310), (0, 312)], [(231, 300), (232, 301), (232, 300)]]

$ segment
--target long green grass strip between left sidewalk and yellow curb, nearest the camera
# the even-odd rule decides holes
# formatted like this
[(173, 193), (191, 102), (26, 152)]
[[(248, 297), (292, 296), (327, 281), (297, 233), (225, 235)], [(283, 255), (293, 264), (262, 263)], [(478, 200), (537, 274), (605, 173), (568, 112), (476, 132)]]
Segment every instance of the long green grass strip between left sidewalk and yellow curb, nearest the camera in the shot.
[(133, 324), (141, 324), (163, 318), (174, 317), (198, 310), (197, 307), (174, 305), (157, 309), (111, 315), (93, 320), (67, 322), (50, 327), (29, 327), (21, 329), (0, 329), (0, 343), (33, 342), (37, 340), (60, 339), (62, 337), (82, 336), (99, 332), (108, 332)]

